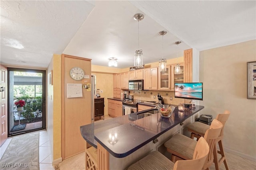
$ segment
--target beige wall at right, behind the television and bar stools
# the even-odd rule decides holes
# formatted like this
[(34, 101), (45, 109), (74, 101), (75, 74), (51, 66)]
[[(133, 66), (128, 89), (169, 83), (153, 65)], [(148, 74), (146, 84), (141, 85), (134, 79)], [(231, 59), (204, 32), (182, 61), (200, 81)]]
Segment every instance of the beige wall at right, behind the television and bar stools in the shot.
[(224, 129), (224, 150), (256, 160), (256, 100), (247, 99), (247, 64), (256, 61), (256, 40), (200, 52), (202, 114), (231, 114)]

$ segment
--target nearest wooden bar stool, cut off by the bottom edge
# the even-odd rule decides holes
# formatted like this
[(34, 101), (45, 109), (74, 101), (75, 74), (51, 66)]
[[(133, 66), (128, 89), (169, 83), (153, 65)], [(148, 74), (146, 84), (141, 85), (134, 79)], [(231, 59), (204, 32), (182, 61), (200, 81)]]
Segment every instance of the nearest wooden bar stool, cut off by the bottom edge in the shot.
[(128, 170), (202, 170), (209, 153), (209, 145), (201, 137), (196, 143), (192, 160), (178, 160), (175, 164), (158, 151), (153, 151), (129, 166)]

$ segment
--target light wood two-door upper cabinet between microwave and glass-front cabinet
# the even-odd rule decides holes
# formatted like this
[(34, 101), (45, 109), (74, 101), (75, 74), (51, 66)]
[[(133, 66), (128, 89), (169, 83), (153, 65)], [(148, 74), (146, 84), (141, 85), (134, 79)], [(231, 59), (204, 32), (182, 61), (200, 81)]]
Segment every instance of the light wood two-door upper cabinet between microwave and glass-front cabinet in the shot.
[(144, 69), (144, 90), (158, 90), (158, 68)]

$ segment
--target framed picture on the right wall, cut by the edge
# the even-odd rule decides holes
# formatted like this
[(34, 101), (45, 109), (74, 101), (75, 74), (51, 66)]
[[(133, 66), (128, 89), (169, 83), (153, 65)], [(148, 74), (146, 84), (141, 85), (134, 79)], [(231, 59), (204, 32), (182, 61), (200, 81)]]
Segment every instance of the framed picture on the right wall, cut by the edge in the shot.
[(256, 99), (256, 61), (247, 62), (247, 98)]

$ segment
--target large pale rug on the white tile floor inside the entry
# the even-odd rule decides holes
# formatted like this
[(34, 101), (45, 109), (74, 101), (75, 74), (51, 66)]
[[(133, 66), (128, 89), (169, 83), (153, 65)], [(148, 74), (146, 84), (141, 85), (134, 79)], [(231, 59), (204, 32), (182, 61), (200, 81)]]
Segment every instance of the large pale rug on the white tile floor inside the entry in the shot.
[(39, 170), (39, 132), (12, 137), (0, 162), (1, 170)]

